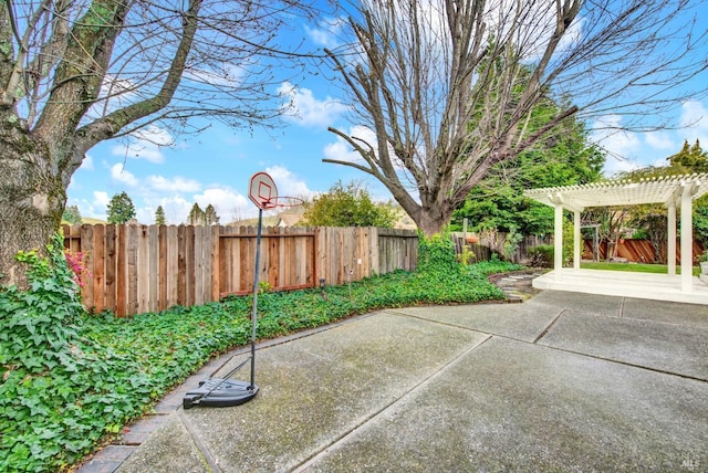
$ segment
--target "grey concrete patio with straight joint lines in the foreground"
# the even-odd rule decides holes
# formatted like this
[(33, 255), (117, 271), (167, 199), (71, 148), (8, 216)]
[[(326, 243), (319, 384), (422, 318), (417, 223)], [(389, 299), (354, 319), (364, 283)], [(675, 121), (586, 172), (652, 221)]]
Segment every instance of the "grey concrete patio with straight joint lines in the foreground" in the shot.
[(110, 445), (81, 472), (708, 465), (708, 306), (545, 291), (382, 311), (261, 346), (256, 382), (243, 406), (158, 407), (139, 444)]

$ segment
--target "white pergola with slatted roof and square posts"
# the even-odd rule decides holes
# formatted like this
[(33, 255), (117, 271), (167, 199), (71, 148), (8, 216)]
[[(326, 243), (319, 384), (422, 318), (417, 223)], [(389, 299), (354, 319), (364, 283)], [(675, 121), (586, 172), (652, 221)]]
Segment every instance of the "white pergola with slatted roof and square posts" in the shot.
[[(524, 195), (555, 209), (554, 281), (563, 278), (563, 210), (573, 212), (573, 271), (580, 272), (581, 212), (591, 207), (616, 207), (641, 203), (662, 203), (668, 220), (668, 277), (676, 280), (676, 212), (680, 209), (680, 292), (693, 291), (693, 201), (708, 192), (708, 174), (666, 176), (642, 179), (638, 182), (615, 180), (581, 186), (531, 189)], [(550, 288), (550, 287), (546, 287)]]

